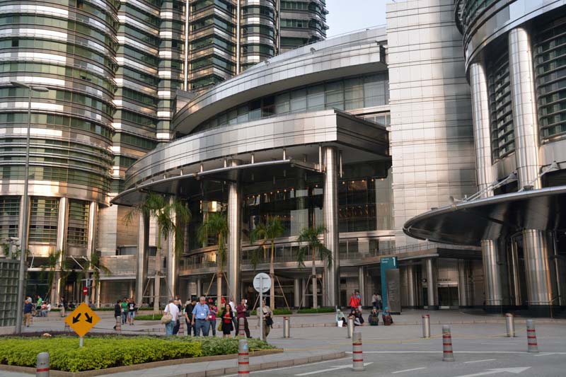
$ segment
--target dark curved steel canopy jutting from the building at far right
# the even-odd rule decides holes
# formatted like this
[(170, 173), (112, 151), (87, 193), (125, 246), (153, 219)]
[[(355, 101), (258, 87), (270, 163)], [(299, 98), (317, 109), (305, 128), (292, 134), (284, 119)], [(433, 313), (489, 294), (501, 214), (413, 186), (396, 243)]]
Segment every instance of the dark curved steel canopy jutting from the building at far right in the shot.
[(480, 245), (523, 229), (566, 228), (566, 185), (513, 192), (433, 209), (405, 223), (403, 231), (421, 240)]

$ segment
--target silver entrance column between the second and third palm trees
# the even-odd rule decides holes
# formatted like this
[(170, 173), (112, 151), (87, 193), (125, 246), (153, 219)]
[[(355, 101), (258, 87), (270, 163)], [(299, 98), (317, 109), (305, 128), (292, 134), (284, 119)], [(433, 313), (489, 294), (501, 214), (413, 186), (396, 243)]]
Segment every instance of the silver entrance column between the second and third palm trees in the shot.
[[(229, 161), (229, 166), (240, 165), (240, 160)], [(241, 187), (230, 182), (228, 187), (228, 291), (229, 296), (238, 296), (240, 286), (240, 243), (241, 243)], [(221, 287), (219, 287), (221, 292)]]

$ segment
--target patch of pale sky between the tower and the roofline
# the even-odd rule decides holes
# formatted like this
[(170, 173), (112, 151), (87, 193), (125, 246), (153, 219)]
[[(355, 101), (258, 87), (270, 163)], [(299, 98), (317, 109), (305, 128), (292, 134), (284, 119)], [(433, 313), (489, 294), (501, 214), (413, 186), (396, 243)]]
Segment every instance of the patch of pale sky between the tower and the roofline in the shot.
[(385, 4), (391, 0), (326, 0), (326, 37), (385, 23)]

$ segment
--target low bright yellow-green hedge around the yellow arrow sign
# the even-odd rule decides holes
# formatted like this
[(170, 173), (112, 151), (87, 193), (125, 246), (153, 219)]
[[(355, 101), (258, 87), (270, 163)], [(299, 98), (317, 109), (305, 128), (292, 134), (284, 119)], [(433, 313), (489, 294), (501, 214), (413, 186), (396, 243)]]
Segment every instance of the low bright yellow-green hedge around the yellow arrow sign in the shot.
[[(250, 350), (273, 349), (257, 339), (248, 340)], [(78, 337), (0, 339), (0, 364), (35, 366), (37, 354), (49, 352), (51, 369), (80, 372), (171, 359), (238, 353), (238, 339), (203, 337)]]

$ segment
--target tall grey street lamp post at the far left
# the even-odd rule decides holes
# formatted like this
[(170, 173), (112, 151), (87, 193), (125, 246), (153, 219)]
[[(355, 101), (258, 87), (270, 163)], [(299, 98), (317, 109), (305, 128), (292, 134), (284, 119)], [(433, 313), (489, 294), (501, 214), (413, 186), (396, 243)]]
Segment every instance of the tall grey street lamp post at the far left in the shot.
[(22, 320), (23, 320), (23, 296), (24, 291), (24, 273), (25, 273), (25, 251), (28, 250), (28, 217), (29, 214), (29, 199), (28, 199), (28, 176), (30, 172), (30, 129), (31, 129), (31, 93), (36, 92), (47, 92), (49, 89), (45, 86), (32, 86), (19, 81), (11, 81), (13, 86), (18, 86), (19, 88), (28, 89), (28, 132), (25, 137), (25, 169), (23, 178), (23, 216), (22, 216), (22, 231), (21, 231), (21, 251), (20, 251), (20, 274), (18, 276), (18, 301), (17, 301), (17, 313), (16, 313), (16, 334), (20, 335), (22, 332)]

